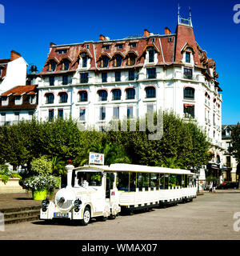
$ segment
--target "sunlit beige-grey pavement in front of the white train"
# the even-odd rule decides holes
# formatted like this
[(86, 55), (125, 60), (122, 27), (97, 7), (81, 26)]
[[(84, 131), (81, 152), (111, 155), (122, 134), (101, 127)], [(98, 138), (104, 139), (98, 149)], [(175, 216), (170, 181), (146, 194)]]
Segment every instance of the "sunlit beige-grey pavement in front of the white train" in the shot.
[[(240, 240), (240, 231), (234, 230), (236, 213), (240, 213), (237, 191), (204, 193), (186, 204), (106, 222), (93, 220), (88, 226), (44, 221), (6, 225), (0, 240)], [(240, 229), (240, 223), (237, 226)]]

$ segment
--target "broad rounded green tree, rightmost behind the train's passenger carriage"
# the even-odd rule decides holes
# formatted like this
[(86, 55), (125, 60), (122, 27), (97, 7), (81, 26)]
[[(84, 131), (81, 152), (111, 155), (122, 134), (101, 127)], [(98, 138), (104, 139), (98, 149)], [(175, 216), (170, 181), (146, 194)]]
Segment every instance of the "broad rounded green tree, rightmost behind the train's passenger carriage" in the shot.
[[(150, 140), (149, 130), (141, 131), (140, 122), (136, 120), (136, 131), (110, 130), (108, 142), (116, 142), (130, 156), (132, 163), (146, 166), (175, 166), (183, 169), (197, 168), (206, 164), (209, 159), (206, 134), (194, 122), (185, 122), (173, 112), (159, 111), (154, 115), (163, 119), (163, 136), (158, 140)], [(130, 124), (128, 122), (128, 128)], [(170, 163), (172, 162), (172, 163)]]

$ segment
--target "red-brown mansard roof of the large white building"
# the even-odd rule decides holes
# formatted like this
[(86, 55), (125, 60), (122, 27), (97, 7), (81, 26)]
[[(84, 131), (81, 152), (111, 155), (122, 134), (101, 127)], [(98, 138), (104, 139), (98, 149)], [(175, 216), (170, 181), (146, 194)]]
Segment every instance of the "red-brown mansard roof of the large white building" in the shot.
[[(132, 46), (133, 42), (136, 43), (136, 47)], [(119, 47), (119, 44), (122, 44), (121, 48)], [(202, 69), (202, 73), (206, 75), (206, 78), (209, 80), (214, 79), (216, 86), (218, 85), (218, 82), (216, 81), (218, 73), (216, 72), (214, 60), (208, 58), (206, 51), (198, 46), (198, 43), (195, 40), (193, 27), (185, 26), (181, 23), (178, 23), (175, 34), (138, 34), (115, 40), (110, 40), (109, 38), (102, 36), (100, 40), (96, 42), (89, 41), (60, 46), (51, 45), (50, 54), (40, 74), (62, 73), (61, 65), (58, 65), (54, 72), (48, 71), (48, 61), (53, 58), (56, 59), (57, 62), (60, 62), (61, 58), (68, 57), (73, 61), (67, 72), (78, 70), (79, 53), (82, 51), (86, 51), (90, 56), (90, 70), (102, 70), (100, 67), (101, 59), (99, 59), (102, 55), (110, 56), (110, 64), (108, 67), (105, 67), (104, 70), (114, 70), (116, 67), (114, 67), (114, 63), (112, 63), (112, 57), (117, 53), (122, 54), (123, 57), (122, 66), (119, 68), (129, 68), (130, 66), (127, 66), (127, 55), (129, 52), (133, 51), (136, 55), (134, 67), (141, 67), (144, 66), (145, 54), (148, 46), (153, 46), (157, 53), (158, 62), (154, 63), (156, 66), (170, 66), (174, 64), (184, 65), (182, 62), (183, 53), (187, 50), (187, 47), (190, 47), (194, 57), (194, 66)], [(67, 49), (67, 53), (58, 54), (58, 50), (63, 48)], [(213, 74), (210, 72), (210, 68), (214, 70)]]

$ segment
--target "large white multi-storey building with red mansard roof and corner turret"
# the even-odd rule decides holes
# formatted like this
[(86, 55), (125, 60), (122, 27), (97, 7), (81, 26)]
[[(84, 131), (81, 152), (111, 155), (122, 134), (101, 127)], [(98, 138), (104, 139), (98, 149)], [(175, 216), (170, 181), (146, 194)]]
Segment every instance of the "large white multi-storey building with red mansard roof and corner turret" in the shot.
[(50, 43), (38, 83), (39, 118), (77, 119), (103, 130), (112, 119), (138, 118), (147, 110), (174, 110), (194, 118), (214, 153), (206, 168), (221, 179), (222, 90), (216, 62), (194, 36), (191, 16), (178, 14), (172, 34), (144, 34), (97, 42)]

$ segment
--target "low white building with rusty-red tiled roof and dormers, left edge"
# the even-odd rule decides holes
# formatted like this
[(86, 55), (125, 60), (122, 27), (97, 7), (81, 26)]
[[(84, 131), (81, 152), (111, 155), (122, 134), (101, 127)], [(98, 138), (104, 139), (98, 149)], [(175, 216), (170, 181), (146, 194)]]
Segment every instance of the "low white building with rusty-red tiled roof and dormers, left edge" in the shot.
[(0, 126), (31, 120), (38, 106), (36, 85), (16, 86), (0, 95)]

